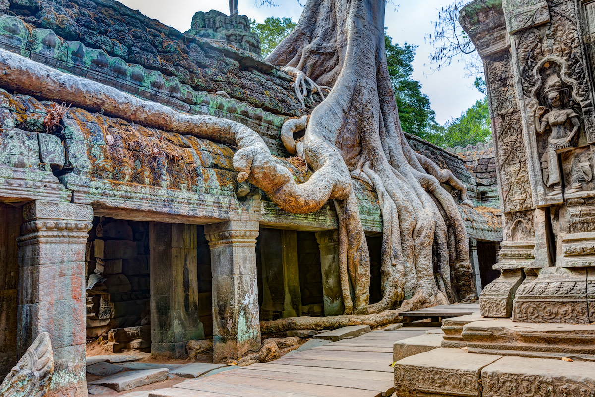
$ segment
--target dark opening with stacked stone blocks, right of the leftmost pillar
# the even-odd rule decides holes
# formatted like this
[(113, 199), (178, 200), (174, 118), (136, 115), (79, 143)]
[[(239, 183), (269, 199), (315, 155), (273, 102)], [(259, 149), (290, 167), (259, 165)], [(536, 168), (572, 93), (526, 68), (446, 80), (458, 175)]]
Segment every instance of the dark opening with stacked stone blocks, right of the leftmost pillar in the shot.
[(149, 223), (95, 217), (86, 249), (87, 340), (151, 347)]

